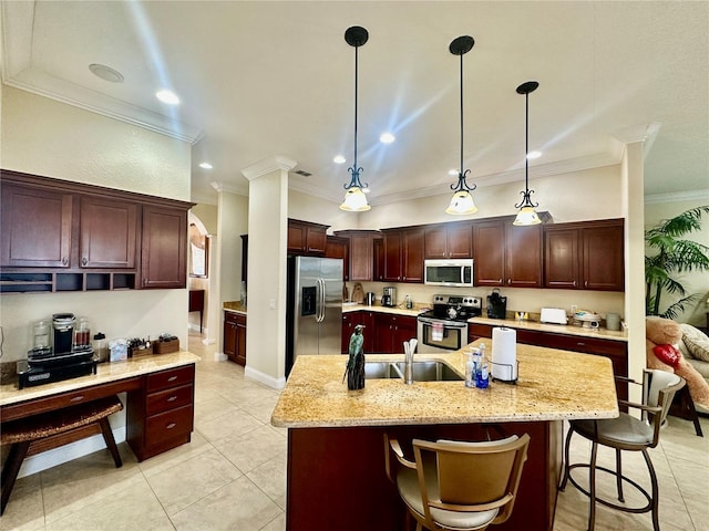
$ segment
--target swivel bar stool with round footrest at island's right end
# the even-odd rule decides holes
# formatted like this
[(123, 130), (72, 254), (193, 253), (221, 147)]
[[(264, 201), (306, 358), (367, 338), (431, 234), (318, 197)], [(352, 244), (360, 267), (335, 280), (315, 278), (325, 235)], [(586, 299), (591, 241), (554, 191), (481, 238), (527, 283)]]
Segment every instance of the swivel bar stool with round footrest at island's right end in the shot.
[[(616, 379), (629, 382), (631, 384), (640, 385), (629, 378), (616, 376)], [(641, 410), (641, 418), (636, 418), (627, 413), (620, 413), (617, 418), (603, 418), (603, 419), (584, 419), (584, 420), (571, 420), (569, 430), (566, 436), (566, 446), (564, 450), (564, 477), (559, 486), (559, 490), (564, 491), (566, 482), (571, 481), (580, 492), (590, 498), (590, 507), (588, 511), (588, 530), (593, 531), (596, 522), (596, 501), (612, 509), (619, 511), (643, 513), (650, 511), (653, 513), (653, 527), (655, 531), (659, 531), (659, 492), (657, 476), (655, 475), (655, 468), (648, 454), (648, 448), (655, 448), (659, 442), (660, 426), (667, 418), (669, 406), (672, 403), (675, 393), (681, 389), (685, 385), (685, 379), (677, 376), (674, 373), (656, 369), (644, 369), (643, 378), (643, 404), (633, 404), (626, 400), (618, 400), (619, 405), (634, 407)], [(572, 436), (578, 434), (582, 437), (590, 440), (590, 462), (576, 462), (569, 464), (569, 446)], [(598, 445), (603, 445), (615, 449), (616, 454), (616, 469), (610, 470), (608, 468), (596, 466), (596, 457), (598, 454)], [(620, 452), (623, 450), (628, 451), (641, 451), (647, 465), (648, 472), (650, 475), (651, 493), (648, 493), (636, 481), (623, 475)], [(571, 471), (574, 468), (582, 467), (588, 468), (588, 485), (589, 490), (580, 487), (576, 480), (571, 476)], [(603, 470), (610, 473), (616, 478), (616, 490), (618, 494), (618, 501), (621, 503), (625, 501), (623, 494), (623, 482), (630, 485), (638, 492), (640, 492), (647, 500), (647, 504), (644, 507), (626, 507), (618, 503), (614, 503), (606, 499), (599, 498), (596, 494), (596, 470)]]

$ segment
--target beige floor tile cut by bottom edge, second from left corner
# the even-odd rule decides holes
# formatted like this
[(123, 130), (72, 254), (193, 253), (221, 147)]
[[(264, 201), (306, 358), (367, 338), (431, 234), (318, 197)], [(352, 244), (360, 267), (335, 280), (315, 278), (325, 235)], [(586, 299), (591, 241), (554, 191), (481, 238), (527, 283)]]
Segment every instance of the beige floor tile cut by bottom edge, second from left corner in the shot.
[(129, 489), (88, 504), (81, 511), (49, 522), (47, 531), (173, 531), (147, 482), (142, 479)]

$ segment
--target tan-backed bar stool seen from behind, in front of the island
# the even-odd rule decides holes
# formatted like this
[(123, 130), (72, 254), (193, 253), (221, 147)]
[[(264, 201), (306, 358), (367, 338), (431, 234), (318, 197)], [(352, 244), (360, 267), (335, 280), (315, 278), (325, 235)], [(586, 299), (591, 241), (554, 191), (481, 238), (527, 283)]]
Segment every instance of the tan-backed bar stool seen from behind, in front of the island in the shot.
[(482, 530), (510, 518), (527, 458), (527, 434), (483, 442), (413, 439), (412, 445), (414, 461), (384, 435), (387, 476), (417, 520), (417, 531)]

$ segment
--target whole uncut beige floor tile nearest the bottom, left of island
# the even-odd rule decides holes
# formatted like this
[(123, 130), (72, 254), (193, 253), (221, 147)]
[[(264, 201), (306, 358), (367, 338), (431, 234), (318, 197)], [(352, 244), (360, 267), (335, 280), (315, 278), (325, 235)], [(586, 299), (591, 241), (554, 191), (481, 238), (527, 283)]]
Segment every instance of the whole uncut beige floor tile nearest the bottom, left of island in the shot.
[(165, 512), (173, 516), (209, 497), (242, 472), (217, 450), (208, 450), (147, 479)]

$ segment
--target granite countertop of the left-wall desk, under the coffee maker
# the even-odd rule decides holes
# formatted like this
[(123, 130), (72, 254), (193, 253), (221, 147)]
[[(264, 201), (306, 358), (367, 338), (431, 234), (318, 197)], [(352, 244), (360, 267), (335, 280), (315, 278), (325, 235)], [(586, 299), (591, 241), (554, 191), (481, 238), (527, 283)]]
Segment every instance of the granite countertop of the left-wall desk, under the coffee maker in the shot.
[(125, 362), (100, 363), (96, 365), (96, 374), (63, 379), (51, 384), (25, 387), (23, 389), (18, 389), (16, 381), (12, 384), (0, 386), (0, 406), (30, 400), (32, 398), (42, 398), (56, 393), (76, 391), (96, 384), (107, 384), (119, 379), (179, 367), (182, 365), (189, 365), (191, 363), (196, 363), (199, 360), (199, 356), (187, 351), (172, 352), (167, 354), (152, 354), (146, 356), (134, 356)]

